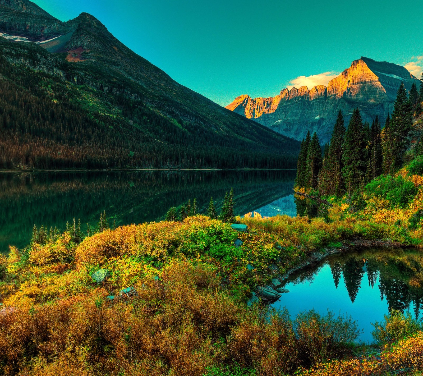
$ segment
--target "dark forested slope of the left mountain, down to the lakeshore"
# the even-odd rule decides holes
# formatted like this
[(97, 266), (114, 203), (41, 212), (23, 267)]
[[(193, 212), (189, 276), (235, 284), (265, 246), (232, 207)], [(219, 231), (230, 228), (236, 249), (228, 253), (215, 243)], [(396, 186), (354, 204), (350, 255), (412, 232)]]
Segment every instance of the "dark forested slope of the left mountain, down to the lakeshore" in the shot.
[(0, 168), (295, 166), (297, 141), (227, 110), (217, 120), (187, 115), (163, 97), (165, 115), (111, 71), (3, 38), (0, 50)]

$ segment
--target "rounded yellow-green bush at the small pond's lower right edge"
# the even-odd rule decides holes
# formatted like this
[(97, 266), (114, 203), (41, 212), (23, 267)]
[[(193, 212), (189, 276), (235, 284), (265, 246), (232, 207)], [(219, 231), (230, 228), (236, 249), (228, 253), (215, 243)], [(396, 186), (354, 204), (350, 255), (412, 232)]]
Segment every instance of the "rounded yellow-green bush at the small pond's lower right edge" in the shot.
[(374, 331), (371, 334), (378, 342), (404, 338), (423, 328), (421, 322), (413, 318), (411, 313), (404, 314), (398, 310), (391, 310), (389, 315), (384, 315), (384, 321), (376, 321), (372, 326)]

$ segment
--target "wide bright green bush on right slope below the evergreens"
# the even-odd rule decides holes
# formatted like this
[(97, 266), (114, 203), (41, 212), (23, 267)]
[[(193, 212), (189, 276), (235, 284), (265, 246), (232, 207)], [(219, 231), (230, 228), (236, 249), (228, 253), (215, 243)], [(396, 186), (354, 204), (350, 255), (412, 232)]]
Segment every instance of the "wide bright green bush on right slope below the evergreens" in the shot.
[(371, 181), (366, 185), (365, 192), (369, 196), (386, 198), (392, 207), (404, 208), (415, 197), (417, 188), (402, 176), (394, 178), (388, 175)]

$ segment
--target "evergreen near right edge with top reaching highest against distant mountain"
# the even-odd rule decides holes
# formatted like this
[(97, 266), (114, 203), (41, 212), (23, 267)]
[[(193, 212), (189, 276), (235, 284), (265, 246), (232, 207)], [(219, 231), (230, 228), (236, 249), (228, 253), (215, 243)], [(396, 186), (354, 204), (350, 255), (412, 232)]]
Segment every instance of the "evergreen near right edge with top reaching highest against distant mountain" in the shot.
[(398, 169), (402, 166), (403, 155), (407, 147), (406, 137), (412, 126), (412, 109), (402, 82), (397, 91), (391, 125), (393, 135), (393, 168)]

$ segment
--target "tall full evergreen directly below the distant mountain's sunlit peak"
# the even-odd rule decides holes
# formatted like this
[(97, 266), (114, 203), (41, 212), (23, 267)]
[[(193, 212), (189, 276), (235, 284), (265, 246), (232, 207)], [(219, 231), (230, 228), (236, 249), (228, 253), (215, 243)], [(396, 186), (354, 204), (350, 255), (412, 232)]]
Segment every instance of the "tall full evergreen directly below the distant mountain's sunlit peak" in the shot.
[(342, 176), (349, 194), (362, 187), (366, 172), (366, 135), (360, 110), (356, 108), (345, 132)]

